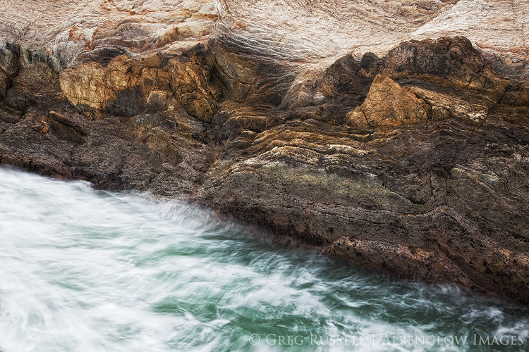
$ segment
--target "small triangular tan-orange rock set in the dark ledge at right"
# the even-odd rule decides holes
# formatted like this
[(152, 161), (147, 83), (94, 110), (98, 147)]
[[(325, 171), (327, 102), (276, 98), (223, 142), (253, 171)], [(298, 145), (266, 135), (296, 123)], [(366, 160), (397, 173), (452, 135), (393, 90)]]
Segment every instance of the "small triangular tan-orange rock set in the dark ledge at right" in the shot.
[(407, 87), (377, 75), (362, 105), (347, 114), (356, 127), (396, 126), (427, 120), (427, 104)]

